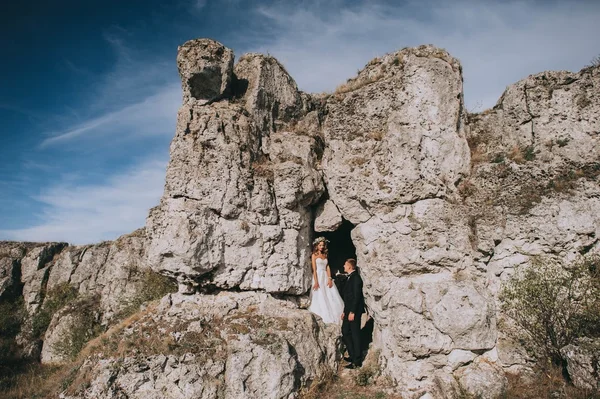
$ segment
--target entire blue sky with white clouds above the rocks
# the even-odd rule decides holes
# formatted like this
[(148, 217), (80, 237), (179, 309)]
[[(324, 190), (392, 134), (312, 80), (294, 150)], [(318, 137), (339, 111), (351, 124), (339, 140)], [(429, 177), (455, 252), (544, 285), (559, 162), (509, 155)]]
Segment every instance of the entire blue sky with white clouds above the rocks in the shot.
[(461, 60), (467, 108), (480, 111), (531, 73), (589, 63), (598, 20), (591, 0), (3, 2), (0, 240), (92, 243), (144, 225), (163, 190), (186, 40), (274, 55), (308, 92), (432, 43)]

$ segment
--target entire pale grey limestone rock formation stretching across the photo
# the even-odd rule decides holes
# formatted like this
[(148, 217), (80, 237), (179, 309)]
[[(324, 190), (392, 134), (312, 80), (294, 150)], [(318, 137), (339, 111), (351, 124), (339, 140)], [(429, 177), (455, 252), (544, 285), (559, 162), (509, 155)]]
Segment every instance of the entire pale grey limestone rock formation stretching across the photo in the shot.
[(66, 397), (295, 397), (339, 360), (336, 332), (294, 304), (310, 288), (315, 232), (348, 222), (394, 390), (503, 395), (505, 373), (530, 359), (510, 338), (501, 284), (535, 256), (566, 265), (600, 249), (600, 68), (530, 76), (468, 114), (459, 62), (433, 46), (377, 58), (318, 96), (274, 58), (234, 65), (208, 39), (181, 46), (177, 64), (183, 104), (145, 229), (96, 246), (4, 244), (0, 296), (22, 284), (36, 312), (67, 282), (100, 294), (110, 318), (131, 270), (149, 267), (180, 293), (119, 334), (160, 324), (181, 348), (210, 332), (201, 342), (221, 356), (92, 355), (90, 385)]

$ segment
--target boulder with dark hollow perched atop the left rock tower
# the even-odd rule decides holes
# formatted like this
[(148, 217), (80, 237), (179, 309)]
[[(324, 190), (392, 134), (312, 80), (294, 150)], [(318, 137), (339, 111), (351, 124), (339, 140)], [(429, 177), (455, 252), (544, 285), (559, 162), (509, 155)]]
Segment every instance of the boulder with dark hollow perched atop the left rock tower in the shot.
[(190, 40), (179, 46), (177, 67), (183, 103), (205, 104), (226, 94), (233, 73), (233, 52), (214, 40)]

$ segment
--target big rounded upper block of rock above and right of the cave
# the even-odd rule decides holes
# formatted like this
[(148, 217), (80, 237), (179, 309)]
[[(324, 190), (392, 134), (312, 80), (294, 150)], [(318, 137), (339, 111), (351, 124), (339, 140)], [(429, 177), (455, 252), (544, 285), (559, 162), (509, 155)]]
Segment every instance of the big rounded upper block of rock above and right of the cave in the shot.
[(387, 207), (445, 198), (469, 173), (462, 76), (431, 46), (371, 61), (327, 101), (323, 162), (331, 200), (354, 224)]

